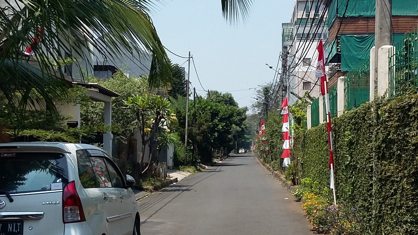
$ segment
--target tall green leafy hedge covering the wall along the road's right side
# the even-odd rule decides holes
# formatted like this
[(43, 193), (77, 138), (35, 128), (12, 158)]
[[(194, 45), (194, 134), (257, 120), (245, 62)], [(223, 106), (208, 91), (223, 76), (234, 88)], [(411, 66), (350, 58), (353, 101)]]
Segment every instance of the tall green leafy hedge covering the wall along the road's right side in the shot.
[[(358, 210), (364, 234), (418, 234), (418, 95), (366, 103), (332, 128), (337, 203)], [(326, 124), (298, 138), (301, 177), (331, 201)]]

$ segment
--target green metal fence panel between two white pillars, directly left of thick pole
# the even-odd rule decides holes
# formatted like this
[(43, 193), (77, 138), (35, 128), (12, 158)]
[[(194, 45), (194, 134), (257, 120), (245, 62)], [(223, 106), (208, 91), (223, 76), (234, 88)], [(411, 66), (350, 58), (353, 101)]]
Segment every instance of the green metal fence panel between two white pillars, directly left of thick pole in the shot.
[(344, 78), (344, 109), (359, 107), (370, 100), (370, 54)]

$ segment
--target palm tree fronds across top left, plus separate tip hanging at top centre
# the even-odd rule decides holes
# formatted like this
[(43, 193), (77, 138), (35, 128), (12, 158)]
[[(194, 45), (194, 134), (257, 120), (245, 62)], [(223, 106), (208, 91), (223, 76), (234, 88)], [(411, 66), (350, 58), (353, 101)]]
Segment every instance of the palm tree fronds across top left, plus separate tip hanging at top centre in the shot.
[[(27, 106), (65, 99), (59, 61), (65, 53), (89, 61), (93, 48), (118, 56), (152, 55), (150, 86), (168, 83), (171, 64), (149, 12), (159, 0), (5, 0), (0, 3), (0, 91), (9, 103)], [(231, 23), (245, 19), (252, 0), (221, 0)], [(34, 40), (36, 38), (36, 40)], [(39, 39), (39, 42), (37, 42)], [(30, 60), (23, 53), (33, 48)], [(58, 65), (58, 73), (51, 68)], [(61, 79), (57, 79), (61, 78)], [(19, 98), (16, 98), (18, 94)], [(1, 93), (0, 93), (1, 95)]]

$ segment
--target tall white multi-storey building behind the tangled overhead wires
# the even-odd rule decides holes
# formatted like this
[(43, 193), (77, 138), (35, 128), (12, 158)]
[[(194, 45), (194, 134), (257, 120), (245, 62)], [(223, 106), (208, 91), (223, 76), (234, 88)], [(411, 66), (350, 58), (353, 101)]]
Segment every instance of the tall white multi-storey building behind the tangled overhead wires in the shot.
[[(285, 84), (289, 84), (289, 104), (296, 96), (310, 92), (318, 97), (319, 83), (315, 77), (319, 40), (326, 40), (327, 12), (318, 0), (296, 0), (290, 23), (282, 24), (282, 71)], [(287, 79), (288, 78), (288, 81)]]

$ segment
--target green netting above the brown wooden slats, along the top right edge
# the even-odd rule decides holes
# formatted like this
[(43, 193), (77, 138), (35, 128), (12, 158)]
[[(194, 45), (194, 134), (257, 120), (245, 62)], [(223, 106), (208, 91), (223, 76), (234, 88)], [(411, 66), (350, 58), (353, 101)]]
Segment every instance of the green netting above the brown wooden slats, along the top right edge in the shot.
[[(348, 8), (345, 7), (348, 2)], [(376, 13), (376, 0), (332, 0), (328, 11), (328, 28), (336, 17), (373, 17)], [(392, 0), (392, 15), (418, 15), (417, 0)]]

